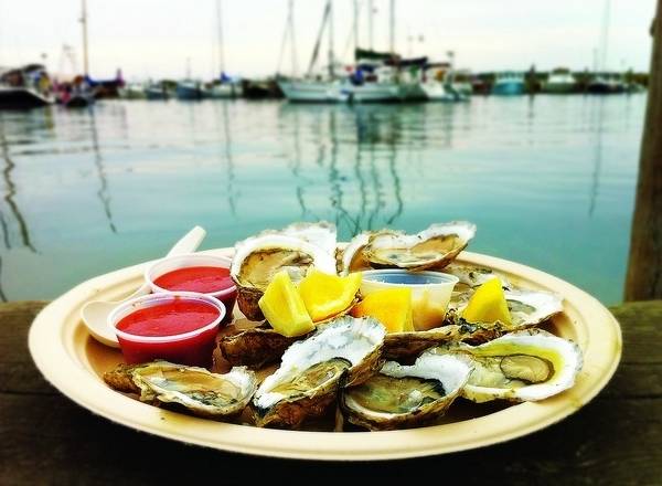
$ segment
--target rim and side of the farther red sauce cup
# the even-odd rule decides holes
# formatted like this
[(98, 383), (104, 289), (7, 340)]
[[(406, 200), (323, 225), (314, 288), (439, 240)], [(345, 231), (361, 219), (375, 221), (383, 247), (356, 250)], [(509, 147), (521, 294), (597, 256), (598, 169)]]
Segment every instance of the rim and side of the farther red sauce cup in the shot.
[[(162, 288), (158, 286), (154, 281), (169, 272), (180, 268), (188, 268), (192, 266), (215, 266), (229, 270), (231, 264), (232, 260), (225, 256), (202, 255), (200, 253), (167, 256), (166, 258), (154, 262), (145, 271), (145, 281), (149, 284), (154, 294), (181, 292)], [(237, 299), (237, 287), (234, 284), (216, 292), (205, 293), (204, 295), (215, 297), (225, 305), (226, 314), (225, 318), (223, 319), (224, 324), (232, 320), (234, 305)]]

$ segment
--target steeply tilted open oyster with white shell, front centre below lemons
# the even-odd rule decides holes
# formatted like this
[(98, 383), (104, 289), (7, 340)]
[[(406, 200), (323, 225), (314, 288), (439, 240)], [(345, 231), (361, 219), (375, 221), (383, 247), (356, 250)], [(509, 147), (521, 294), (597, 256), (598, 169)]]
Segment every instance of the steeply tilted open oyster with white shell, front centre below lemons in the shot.
[(298, 427), (322, 415), (340, 387), (361, 383), (381, 368), (385, 334), (375, 319), (344, 316), (295, 342), (255, 393), (256, 424)]

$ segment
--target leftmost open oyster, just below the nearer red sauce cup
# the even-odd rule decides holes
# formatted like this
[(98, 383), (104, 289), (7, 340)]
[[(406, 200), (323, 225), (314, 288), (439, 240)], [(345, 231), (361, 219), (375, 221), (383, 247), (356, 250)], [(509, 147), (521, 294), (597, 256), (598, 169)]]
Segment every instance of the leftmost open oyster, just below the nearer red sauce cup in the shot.
[(244, 367), (216, 374), (168, 361), (120, 364), (106, 373), (104, 380), (120, 391), (139, 392), (140, 401), (179, 403), (201, 416), (239, 413), (257, 389), (255, 374)]

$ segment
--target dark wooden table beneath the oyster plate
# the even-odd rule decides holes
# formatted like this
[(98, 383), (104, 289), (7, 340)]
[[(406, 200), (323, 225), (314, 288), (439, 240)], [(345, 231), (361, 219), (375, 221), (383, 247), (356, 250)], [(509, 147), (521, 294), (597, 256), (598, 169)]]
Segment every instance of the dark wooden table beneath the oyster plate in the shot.
[(222, 453), (96, 416), (53, 389), (32, 362), (28, 329), (45, 304), (0, 304), (1, 485), (195, 484), (207, 477), (218, 485), (317, 485), (340, 476), (407, 485), (423, 475), (462, 486), (662, 485), (662, 300), (611, 309), (623, 330), (621, 364), (598, 398), (562, 423), (488, 448), (376, 463)]

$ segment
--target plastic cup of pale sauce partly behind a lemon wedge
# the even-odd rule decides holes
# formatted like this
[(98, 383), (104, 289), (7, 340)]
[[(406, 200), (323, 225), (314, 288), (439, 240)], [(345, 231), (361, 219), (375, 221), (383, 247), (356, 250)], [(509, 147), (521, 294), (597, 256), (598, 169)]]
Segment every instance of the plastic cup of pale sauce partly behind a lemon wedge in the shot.
[(441, 326), (450, 296), (459, 282), (455, 275), (441, 272), (408, 272), (406, 270), (369, 270), (363, 272), (361, 294), (393, 287), (412, 289), (412, 317), (416, 330)]

